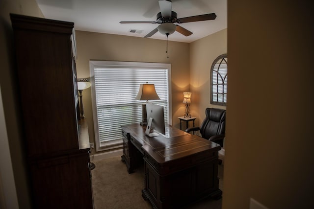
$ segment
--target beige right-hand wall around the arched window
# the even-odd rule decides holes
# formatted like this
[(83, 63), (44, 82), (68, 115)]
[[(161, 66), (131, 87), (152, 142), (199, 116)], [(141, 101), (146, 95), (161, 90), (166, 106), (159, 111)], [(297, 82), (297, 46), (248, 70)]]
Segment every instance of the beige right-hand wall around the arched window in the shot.
[[(210, 104), (210, 67), (214, 59), (227, 53), (227, 29), (223, 29), (190, 44), (191, 115), (196, 125), (205, 118), (205, 109), (225, 106)], [(229, 89), (229, 88), (228, 88)]]

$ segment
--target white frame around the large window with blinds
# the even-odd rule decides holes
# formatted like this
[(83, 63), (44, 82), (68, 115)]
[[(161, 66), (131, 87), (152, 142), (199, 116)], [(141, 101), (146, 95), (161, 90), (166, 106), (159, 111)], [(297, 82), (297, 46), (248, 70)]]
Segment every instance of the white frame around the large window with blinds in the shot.
[(171, 64), (168, 63), (145, 63), (145, 62), (122, 62), (122, 61), (89, 61), (90, 68), (90, 81), (91, 81), (91, 97), (92, 97), (92, 110), (93, 110), (93, 122), (95, 132), (96, 152), (105, 151), (111, 149), (117, 149), (123, 147), (122, 135), (121, 140), (101, 142), (99, 137), (99, 124), (98, 124), (98, 111), (96, 103), (96, 89), (95, 89), (95, 68), (126, 68), (126, 69), (167, 69), (168, 70), (168, 124), (172, 125), (172, 101), (171, 101)]

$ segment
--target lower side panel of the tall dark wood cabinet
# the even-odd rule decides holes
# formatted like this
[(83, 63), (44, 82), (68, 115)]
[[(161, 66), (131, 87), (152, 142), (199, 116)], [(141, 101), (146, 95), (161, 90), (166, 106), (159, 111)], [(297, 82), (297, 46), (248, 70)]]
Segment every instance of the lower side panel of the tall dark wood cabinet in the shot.
[(89, 154), (86, 153), (32, 162), (35, 208), (92, 208), (88, 159)]

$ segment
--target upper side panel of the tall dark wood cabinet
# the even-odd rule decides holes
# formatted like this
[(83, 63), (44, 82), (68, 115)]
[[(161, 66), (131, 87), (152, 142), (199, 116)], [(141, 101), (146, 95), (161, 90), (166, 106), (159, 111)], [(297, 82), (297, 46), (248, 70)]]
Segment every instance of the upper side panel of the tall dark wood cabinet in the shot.
[(78, 149), (70, 35), (15, 35), (28, 156)]

